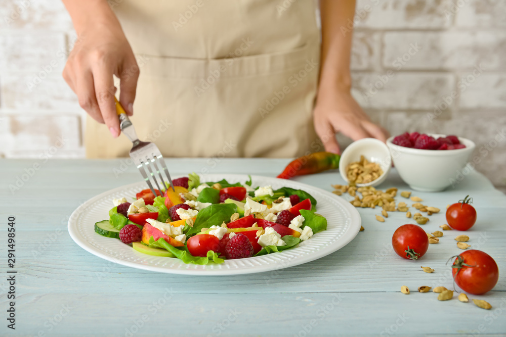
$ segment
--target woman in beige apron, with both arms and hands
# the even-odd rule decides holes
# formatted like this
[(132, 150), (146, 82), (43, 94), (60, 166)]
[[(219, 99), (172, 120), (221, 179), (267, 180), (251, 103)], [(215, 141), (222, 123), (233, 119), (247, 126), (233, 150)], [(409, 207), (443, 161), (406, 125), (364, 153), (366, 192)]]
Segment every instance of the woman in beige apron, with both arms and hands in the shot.
[(321, 44), (313, 0), (63, 2), (78, 34), (63, 76), (106, 125), (87, 120), (90, 158), (131, 148), (107, 139), (120, 134), (113, 75), (139, 138), (165, 156), (294, 157), (338, 153), (336, 132), (386, 139), (350, 94), (341, 27), (354, 1), (320, 1)]

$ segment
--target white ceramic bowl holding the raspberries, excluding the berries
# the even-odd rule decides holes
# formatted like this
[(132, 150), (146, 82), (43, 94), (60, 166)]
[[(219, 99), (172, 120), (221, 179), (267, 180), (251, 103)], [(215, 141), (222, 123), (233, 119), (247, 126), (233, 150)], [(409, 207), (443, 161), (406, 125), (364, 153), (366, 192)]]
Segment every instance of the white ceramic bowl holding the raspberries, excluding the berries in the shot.
[[(429, 133), (434, 138), (442, 134)], [(394, 137), (387, 139), (395, 168), (402, 180), (419, 191), (436, 192), (445, 189), (455, 180), (458, 172), (466, 166), (475, 149), (475, 143), (458, 137), (466, 146), (457, 150), (420, 150), (405, 148), (392, 143)]]

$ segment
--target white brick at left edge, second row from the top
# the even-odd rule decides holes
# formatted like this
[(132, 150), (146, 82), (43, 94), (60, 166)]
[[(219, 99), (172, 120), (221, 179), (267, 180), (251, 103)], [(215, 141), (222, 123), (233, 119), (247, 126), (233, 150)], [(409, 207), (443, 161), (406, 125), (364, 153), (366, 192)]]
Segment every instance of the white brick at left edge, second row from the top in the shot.
[(0, 33), (0, 70), (58, 71), (65, 65), (64, 33)]

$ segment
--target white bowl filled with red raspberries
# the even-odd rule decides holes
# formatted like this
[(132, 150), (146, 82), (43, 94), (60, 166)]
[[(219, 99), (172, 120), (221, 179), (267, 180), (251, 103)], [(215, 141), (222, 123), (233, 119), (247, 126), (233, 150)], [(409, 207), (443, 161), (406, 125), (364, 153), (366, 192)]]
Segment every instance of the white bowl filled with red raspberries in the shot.
[(402, 180), (420, 191), (440, 191), (458, 182), (475, 149), (466, 138), (418, 132), (390, 137), (387, 146)]

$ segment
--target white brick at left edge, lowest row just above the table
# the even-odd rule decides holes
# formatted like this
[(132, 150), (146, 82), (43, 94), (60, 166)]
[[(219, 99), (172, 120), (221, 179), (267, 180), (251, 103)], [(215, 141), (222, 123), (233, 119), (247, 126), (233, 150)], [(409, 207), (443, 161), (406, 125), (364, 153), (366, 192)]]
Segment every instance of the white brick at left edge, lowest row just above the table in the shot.
[(65, 157), (82, 152), (80, 117), (73, 114), (9, 114), (0, 117), (0, 150), (8, 158)]

